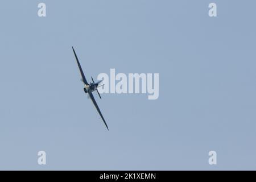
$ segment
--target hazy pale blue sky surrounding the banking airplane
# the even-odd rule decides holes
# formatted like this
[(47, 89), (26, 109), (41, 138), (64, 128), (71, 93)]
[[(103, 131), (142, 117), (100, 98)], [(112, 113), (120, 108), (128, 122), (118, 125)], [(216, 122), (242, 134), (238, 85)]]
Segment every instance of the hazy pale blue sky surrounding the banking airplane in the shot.
[[(255, 7), (1, 1), (0, 169), (256, 169)], [(88, 80), (110, 68), (159, 73), (158, 100), (94, 93), (106, 130), (71, 46)], [(37, 163), (40, 150), (46, 166)]]

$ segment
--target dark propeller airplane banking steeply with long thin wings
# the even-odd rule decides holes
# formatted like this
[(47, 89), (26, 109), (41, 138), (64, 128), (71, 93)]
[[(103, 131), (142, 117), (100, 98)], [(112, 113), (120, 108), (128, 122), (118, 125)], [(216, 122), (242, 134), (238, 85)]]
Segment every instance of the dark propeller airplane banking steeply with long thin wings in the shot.
[[(94, 82), (93, 78), (91, 77), (93, 82), (90, 82), (90, 83), (87, 82), (87, 80), (86, 80), (86, 78), (85, 78), (85, 76), (84, 76), (84, 72), (82, 71), (81, 65), (80, 65), (80, 63), (79, 63), (79, 59), (77, 58), (77, 55), (76, 55), (76, 52), (75, 52), (75, 49), (73, 48), (73, 46), (72, 46), (72, 49), (73, 49), (73, 52), (74, 52), (74, 54), (75, 54), (76, 62), (77, 62), (77, 65), (78, 65), (78, 67), (79, 67), (80, 74), (81, 74), (81, 77), (82, 77), (82, 78), (81, 78), (81, 81), (84, 82), (84, 92), (85, 92), (85, 93), (88, 93), (88, 96), (89, 96), (90, 100), (92, 100), (94, 106), (96, 107), (98, 113), (99, 113), (100, 116), (101, 116), (101, 119), (104, 121), (104, 123), (105, 123), (105, 125), (106, 125), (106, 128), (109, 130), (109, 127), (108, 127), (108, 125), (106, 124), (106, 121), (105, 121), (103, 115), (101, 114), (100, 108), (98, 107), (97, 102), (95, 101), (95, 99), (94, 99), (94, 97), (93, 97), (93, 94), (92, 94), (92, 92), (94, 92), (94, 91), (96, 90), (97, 93), (98, 93), (98, 96), (99, 96), (100, 99), (101, 99), (100, 93), (98, 92), (98, 88), (99, 88), (100, 86), (103, 86), (103, 85), (100, 85), (100, 83), (102, 82), (102, 80), (97, 81), (97, 82)], [(100, 85), (100, 86), (99, 86), (99, 85)]]

